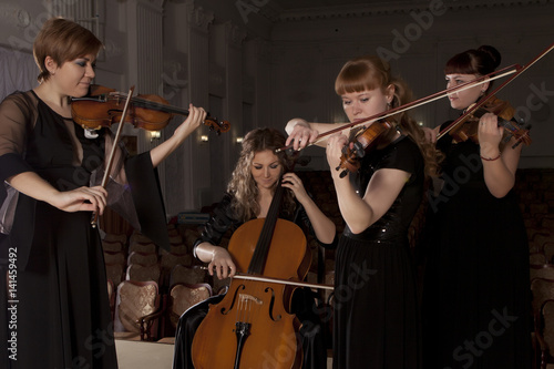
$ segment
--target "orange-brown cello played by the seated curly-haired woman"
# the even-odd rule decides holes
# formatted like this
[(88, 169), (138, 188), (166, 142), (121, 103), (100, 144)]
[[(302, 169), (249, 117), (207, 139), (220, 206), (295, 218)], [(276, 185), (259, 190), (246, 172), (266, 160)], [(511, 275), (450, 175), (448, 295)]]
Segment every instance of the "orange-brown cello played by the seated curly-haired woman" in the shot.
[[(233, 234), (228, 252), (238, 273), (291, 281), (306, 277), (311, 257), (304, 232), (278, 218), (284, 191), (279, 181), (267, 217), (246, 222)], [(233, 278), (223, 300), (209, 306), (196, 330), (194, 367), (300, 368), (300, 322), (290, 314), (293, 291), (286, 284)]]

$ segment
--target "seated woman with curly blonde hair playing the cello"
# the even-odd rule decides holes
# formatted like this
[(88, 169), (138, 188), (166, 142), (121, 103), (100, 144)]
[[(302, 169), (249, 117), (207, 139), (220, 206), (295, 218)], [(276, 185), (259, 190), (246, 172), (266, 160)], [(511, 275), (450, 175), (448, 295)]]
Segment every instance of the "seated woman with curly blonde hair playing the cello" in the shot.
[[(228, 183), (227, 192), (214, 211), (214, 216), (204, 226), (196, 240), (194, 253), (198, 259), (208, 263), (211, 275), (222, 279), (236, 273), (233, 256), (219, 246), (228, 229), (235, 230), (254, 218), (264, 218), (279, 178), (287, 191), (280, 217), (309, 229), (317, 240), (332, 247), (336, 226), (306, 192), (301, 180), (288, 173), (291, 158), (275, 151), (285, 145), (285, 136), (273, 129), (257, 129), (246, 134), (240, 157)], [(314, 311), (314, 296), (308, 289), (297, 289), (293, 298), (293, 312), (304, 324), (300, 329), (304, 346), (302, 368), (327, 368), (327, 353), (320, 334), (319, 318)], [(208, 304), (222, 300), (215, 296), (188, 309), (179, 319), (175, 344), (174, 368), (194, 368), (191, 345), (194, 332), (206, 315)]]

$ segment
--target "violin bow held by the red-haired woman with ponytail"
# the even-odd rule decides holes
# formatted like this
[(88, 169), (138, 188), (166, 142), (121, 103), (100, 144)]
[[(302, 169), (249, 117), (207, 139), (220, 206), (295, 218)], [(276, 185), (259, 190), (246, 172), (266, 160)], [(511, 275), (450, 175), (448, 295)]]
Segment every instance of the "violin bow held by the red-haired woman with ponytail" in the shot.
[[(449, 94), (451, 94), (453, 92), (460, 92), (460, 91), (469, 90), (471, 88), (474, 88), (476, 85), (483, 84), (485, 82), (494, 81), (494, 80), (501, 79), (503, 76), (516, 73), (520, 69), (522, 69), (522, 66), (520, 64), (512, 64), (512, 65), (505, 66), (505, 68), (503, 68), (501, 70), (491, 72), (489, 74), (481, 75), (481, 76), (479, 76), (479, 78), (476, 78), (474, 80), (468, 81), (468, 82), (462, 83), (460, 85), (456, 85), (456, 86), (453, 86), (453, 88), (450, 88), (450, 89), (447, 89), (447, 90), (443, 90), (443, 91), (439, 91), (439, 92), (435, 92), (433, 94), (430, 94), (429, 96), (421, 98), (421, 99), (414, 100), (414, 101), (412, 101), (410, 103), (407, 103), (407, 104), (403, 104), (403, 105), (390, 109), (390, 110), (388, 110), (386, 112), (381, 112), (379, 114), (376, 114), (376, 115), (372, 115), (372, 116), (369, 116), (369, 117), (366, 117), (366, 119), (362, 119), (362, 120), (359, 120), (359, 121), (356, 121), (356, 122), (352, 122), (352, 123), (348, 123), (348, 124), (341, 125), (340, 127), (332, 129), (330, 131), (327, 131), (325, 133), (319, 134), (317, 136), (316, 141), (314, 141), (312, 143), (306, 145), (306, 147), (318, 144), (319, 142), (321, 142), (321, 140), (324, 140), (326, 136), (328, 136), (330, 134), (334, 134), (334, 133), (337, 133), (337, 132), (340, 132), (340, 131), (347, 130), (347, 129), (355, 129), (358, 125), (361, 125), (361, 124), (370, 122), (370, 121), (378, 121), (378, 120), (382, 120), (382, 119), (389, 117), (389, 116), (394, 115), (394, 114), (399, 114), (399, 113), (406, 112), (406, 111), (408, 111), (410, 109), (418, 107), (418, 106), (424, 105), (427, 103), (433, 102), (435, 100), (445, 98), (445, 96), (448, 96)], [(285, 150), (290, 148), (291, 146), (293, 145), (289, 145), (289, 146), (286, 146), (286, 147), (280, 147), (280, 148), (277, 148), (275, 152), (278, 153), (278, 152), (285, 151)]]

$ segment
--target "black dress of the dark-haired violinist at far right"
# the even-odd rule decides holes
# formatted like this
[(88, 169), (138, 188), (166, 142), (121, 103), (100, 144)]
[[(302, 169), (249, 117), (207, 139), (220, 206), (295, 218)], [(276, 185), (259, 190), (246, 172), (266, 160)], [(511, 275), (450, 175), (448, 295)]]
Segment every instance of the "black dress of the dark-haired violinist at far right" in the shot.
[(430, 197), (424, 363), (434, 368), (530, 368), (529, 247), (516, 197), (496, 198), (480, 147), (438, 142), (444, 185)]

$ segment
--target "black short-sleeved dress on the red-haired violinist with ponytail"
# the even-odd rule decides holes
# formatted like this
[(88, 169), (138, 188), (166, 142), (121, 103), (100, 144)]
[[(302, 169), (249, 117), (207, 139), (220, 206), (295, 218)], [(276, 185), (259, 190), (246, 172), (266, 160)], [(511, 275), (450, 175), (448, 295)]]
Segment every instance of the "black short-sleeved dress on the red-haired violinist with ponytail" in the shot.
[(420, 319), (408, 228), (423, 194), (424, 162), (401, 136), (366, 155), (357, 175), (366, 193), (373, 173), (401, 170), (410, 178), (389, 211), (360, 234), (347, 227), (335, 269), (334, 368), (419, 368)]

